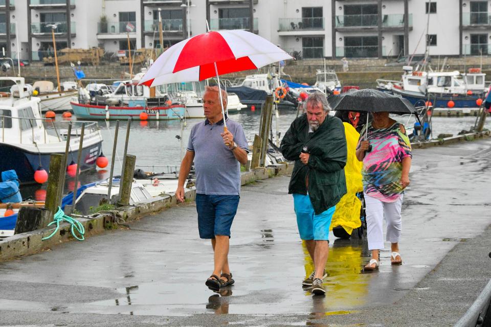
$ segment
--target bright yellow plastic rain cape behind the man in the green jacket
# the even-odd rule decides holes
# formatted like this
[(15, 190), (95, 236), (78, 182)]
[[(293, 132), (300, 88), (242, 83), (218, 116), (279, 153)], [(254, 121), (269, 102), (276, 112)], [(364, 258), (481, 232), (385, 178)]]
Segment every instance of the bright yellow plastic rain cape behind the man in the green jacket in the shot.
[(348, 147), (348, 157), (346, 159), (346, 166), (344, 167), (346, 189), (348, 192), (336, 204), (336, 211), (332, 216), (330, 229), (332, 230), (333, 227), (342, 226), (351, 235), (353, 229), (360, 227), (362, 224), (360, 221), (362, 202), (356, 197), (356, 193), (363, 191), (363, 162), (358, 161), (356, 158), (356, 145), (358, 144), (360, 133), (349, 123), (343, 123), (343, 125)]

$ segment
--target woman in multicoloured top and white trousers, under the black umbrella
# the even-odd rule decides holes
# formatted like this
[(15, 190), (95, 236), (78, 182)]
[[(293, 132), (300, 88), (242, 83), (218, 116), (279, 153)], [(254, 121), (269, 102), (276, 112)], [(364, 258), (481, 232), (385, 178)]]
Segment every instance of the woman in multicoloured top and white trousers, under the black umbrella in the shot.
[(372, 115), (373, 121), (361, 131), (356, 149), (356, 157), (363, 161), (368, 249), (372, 252), (365, 270), (378, 269), (378, 251), (384, 248), (384, 218), (387, 241), (391, 242), (391, 264), (403, 263), (399, 254), (400, 208), (404, 190), (409, 185), (412, 158), (411, 143), (403, 124), (389, 118), (388, 112), (373, 112)]

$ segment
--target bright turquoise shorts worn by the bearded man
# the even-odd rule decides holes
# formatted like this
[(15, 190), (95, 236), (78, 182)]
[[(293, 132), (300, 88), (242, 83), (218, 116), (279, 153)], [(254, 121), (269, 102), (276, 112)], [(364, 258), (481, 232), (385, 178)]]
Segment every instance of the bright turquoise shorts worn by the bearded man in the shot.
[(294, 194), (293, 203), (297, 214), (297, 225), (302, 240), (329, 240), (329, 226), (336, 206), (331, 206), (320, 215), (314, 213), (314, 208), (308, 195)]

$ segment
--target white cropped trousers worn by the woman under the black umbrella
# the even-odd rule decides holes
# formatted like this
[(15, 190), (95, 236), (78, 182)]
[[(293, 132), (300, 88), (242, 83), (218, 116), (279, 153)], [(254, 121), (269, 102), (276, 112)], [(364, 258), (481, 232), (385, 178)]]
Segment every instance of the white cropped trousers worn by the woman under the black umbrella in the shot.
[(402, 222), (400, 208), (403, 204), (403, 194), (395, 202), (382, 202), (365, 194), (365, 213), (367, 215), (367, 238), (369, 250), (384, 248), (383, 221), (387, 222), (387, 241), (398, 243)]

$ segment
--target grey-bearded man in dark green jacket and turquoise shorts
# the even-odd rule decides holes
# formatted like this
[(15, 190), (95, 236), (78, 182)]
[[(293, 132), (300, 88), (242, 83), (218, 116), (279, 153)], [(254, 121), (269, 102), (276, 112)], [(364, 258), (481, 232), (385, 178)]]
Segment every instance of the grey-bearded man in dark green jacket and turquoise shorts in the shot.
[(315, 270), (302, 285), (325, 294), (323, 279), (329, 255), (329, 226), (336, 204), (346, 194), (346, 137), (339, 118), (329, 116), (321, 92), (311, 94), (281, 141), (281, 152), (295, 161), (288, 194), (293, 194), (300, 238), (305, 241)]

